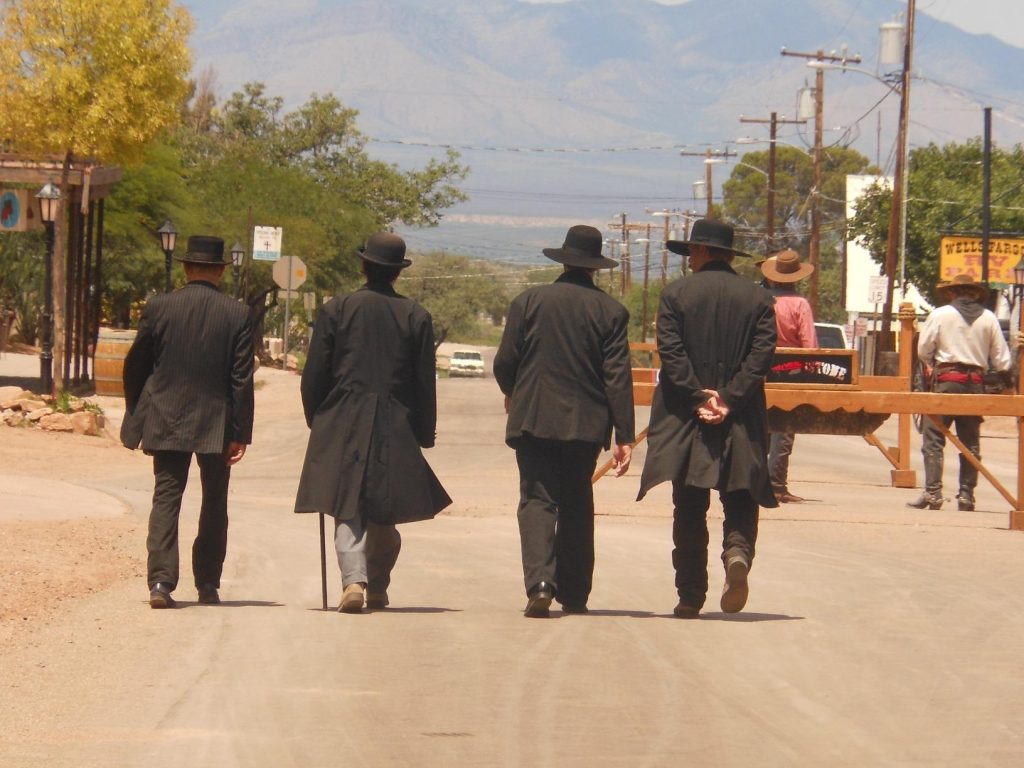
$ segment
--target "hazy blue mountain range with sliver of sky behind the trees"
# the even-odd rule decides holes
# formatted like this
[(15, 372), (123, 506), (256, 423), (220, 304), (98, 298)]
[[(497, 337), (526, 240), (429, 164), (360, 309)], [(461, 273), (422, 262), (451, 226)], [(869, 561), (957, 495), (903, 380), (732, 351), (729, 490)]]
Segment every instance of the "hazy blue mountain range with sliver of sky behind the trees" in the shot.
[[(439, 230), (410, 232), (421, 247), (521, 256), (566, 222), (699, 207), (691, 182), (701, 160), (680, 151), (765, 139), (766, 126), (739, 117), (792, 118), (798, 90), (813, 84), (783, 46), (862, 56), (860, 72), (825, 74), (825, 141), (892, 166), (899, 98), (879, 79), (877, 50), (880, 25), (905, 8), (896, 0), (184, 4), (196, 69), (215, 71), (221, 95), (261, 81), (287, 109), (332, 92), (359, 111), (371, 154), (401, 167), (459, 148), (471, 200)], [(998, 143), (1024, 140), (1024, 49), (924, 12), (914, 43), (911, 145), (977, 136), (983, 105), (994, 108)], [(799, 146), (812, 135), (810, 123), (779, 130)], [(717, 186), (728, 168), (715, 171)]]

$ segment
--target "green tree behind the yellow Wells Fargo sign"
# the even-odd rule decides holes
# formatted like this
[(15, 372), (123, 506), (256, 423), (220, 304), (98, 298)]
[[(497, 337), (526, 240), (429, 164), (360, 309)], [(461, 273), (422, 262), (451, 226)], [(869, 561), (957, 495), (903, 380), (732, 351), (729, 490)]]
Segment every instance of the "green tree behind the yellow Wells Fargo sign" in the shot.
[[(909, 156), (906, 202), (906, 276), (922, 296), (939, 282), (939, 242), (943, 232), (981, 231), (983, 147), (931, 143)], [(991, 228), (1024, 231), (1024, 147), (992, 152)], [(850, 221), (871, 257), (885, 264), (892, 191), (874, 186), (864, 195)]]

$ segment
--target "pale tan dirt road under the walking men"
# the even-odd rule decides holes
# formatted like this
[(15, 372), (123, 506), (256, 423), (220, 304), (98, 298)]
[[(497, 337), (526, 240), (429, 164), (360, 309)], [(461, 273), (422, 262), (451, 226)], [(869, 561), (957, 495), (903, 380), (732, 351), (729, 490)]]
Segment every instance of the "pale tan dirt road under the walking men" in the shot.
[[(1024, 537), (987, 487), (985, 511), (907, 510), (862, 440), (802, 435), (793, 485), (813, 501), (764, 514), (748, 610), (717, 611), (716, 564), (709, 611), (684, 622), (668, 488), (632, 501), (640, 451), (598, 485), (590, 615), (526, 620), (500, 397), (442, 380), (429, 459), (457, 503), (403, 528), (392, 608), (343, 615), (319, 608), (315, 518), (291, 512), (298, 381), (259, 378), (219, 607), (187, 579), (179, 610), (146, 606), (144, 457), (0, 428), (0, 475), (87, 489), (66, 520), (0, 514), (0, 554), (46, 571), (23, 577), (26, 616), (0, 613), (0, 766), (1024, 764)], [(1009, 480), (1015, 444), (983, 444)], [(197, 513), (194, 477), (185, 544)]]

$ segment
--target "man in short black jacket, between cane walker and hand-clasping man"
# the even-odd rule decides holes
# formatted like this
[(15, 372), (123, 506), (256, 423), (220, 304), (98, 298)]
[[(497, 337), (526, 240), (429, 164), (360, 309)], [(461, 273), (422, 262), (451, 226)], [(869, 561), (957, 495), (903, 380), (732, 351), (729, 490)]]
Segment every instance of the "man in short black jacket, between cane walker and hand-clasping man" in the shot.
[(594, 285), (601, 233), (573, 226), (544, 254), (565, 265), (553, 285), (530, 288), (509, 308), (495, 357), (505, 393), (505, 441), (519, 465), (519, 536), (526, 615), (546, 616), (557, 596), (566, 613), (587, 611), (594, 575), (594, 492), (601, 446), (615, 474), (634, 442), (629, 312)]

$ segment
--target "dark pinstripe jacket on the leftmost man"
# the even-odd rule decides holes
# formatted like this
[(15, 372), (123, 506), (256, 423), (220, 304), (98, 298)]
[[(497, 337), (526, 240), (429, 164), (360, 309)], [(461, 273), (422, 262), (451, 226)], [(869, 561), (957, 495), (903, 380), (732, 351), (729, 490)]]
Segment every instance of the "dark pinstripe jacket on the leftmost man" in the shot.
[(220, 454), (252, 442), (253, 342), (245, 305), (194, 281), (154, 296), (125, 357), (121, 441)]

